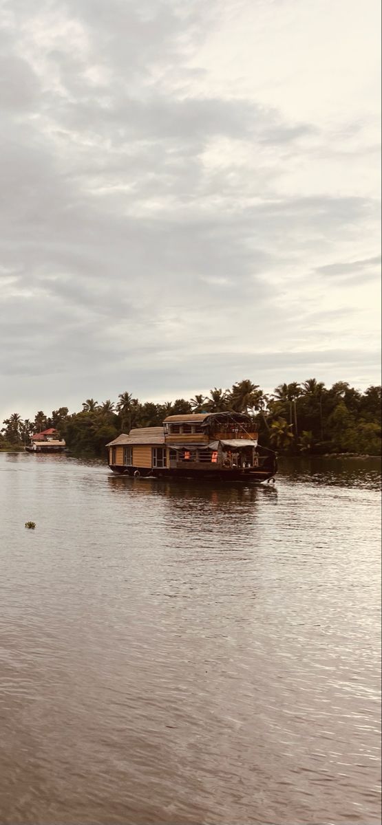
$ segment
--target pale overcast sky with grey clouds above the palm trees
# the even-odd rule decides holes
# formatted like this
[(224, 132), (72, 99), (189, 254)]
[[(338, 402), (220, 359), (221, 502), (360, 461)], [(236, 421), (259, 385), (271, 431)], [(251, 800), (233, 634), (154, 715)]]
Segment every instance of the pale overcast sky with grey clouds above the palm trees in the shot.
[(3, 0), (1, 418), (380, 383), (378, 0)]

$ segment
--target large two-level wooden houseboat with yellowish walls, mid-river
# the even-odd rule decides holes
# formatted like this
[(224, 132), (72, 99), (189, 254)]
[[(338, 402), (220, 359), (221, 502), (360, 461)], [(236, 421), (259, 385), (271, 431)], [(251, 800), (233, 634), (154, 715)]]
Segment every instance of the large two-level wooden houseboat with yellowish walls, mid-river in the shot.
[(245, 413), (170, 415), (162, 427), (141, 427), (107, 444), (114, 473), (224, 481), (269, 481), (273, 450), (261, 447)]

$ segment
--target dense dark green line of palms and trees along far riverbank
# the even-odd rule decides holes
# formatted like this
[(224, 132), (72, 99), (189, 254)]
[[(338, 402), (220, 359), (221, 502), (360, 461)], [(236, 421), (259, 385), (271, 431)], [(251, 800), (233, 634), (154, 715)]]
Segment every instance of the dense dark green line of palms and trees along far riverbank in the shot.
[(220, 413), (227, 410), (250, 415), (260, 433), (260, 442), (280, 453), (381, 454), (381, 388), (371, 386), (359, 392), (345, 381), (330, 389), (314, 378), (302, 384), (279, 384), (265, 394), (251, 380), (238, 381), (232, 389), (215, 387), (206, 397), (157, 404), (141, 403), (128, 392), (117, 403), (98, 403), (88, 398), (79, 413), (67, 407), (50, 416), (40, 410), (33, 421), (23, 421), (13, 413), (3, 422), (2, 450), (22, 449), (33, 433), (55, 427), (76, 455), (105, 455), (105, 444), (132, 427), (160, 426), (164, 418), (177, 413)]

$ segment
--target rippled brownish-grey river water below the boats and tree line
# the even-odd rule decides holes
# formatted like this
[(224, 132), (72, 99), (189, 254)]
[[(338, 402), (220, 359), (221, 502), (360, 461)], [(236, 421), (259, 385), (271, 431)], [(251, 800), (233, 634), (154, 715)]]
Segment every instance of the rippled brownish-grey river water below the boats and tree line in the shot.
[(1, 825), (380, 823), (379, 490), (0, 455)]

